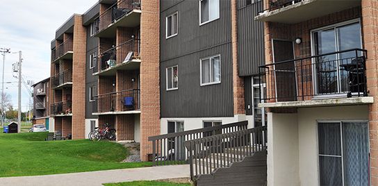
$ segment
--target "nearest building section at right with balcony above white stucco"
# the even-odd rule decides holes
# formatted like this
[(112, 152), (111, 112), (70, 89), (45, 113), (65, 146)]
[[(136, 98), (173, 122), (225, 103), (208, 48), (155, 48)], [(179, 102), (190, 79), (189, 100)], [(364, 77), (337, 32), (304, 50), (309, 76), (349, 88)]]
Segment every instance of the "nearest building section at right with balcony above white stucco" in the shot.
[(378, 185), (377, 1), (264, 1), (268, 185)]

